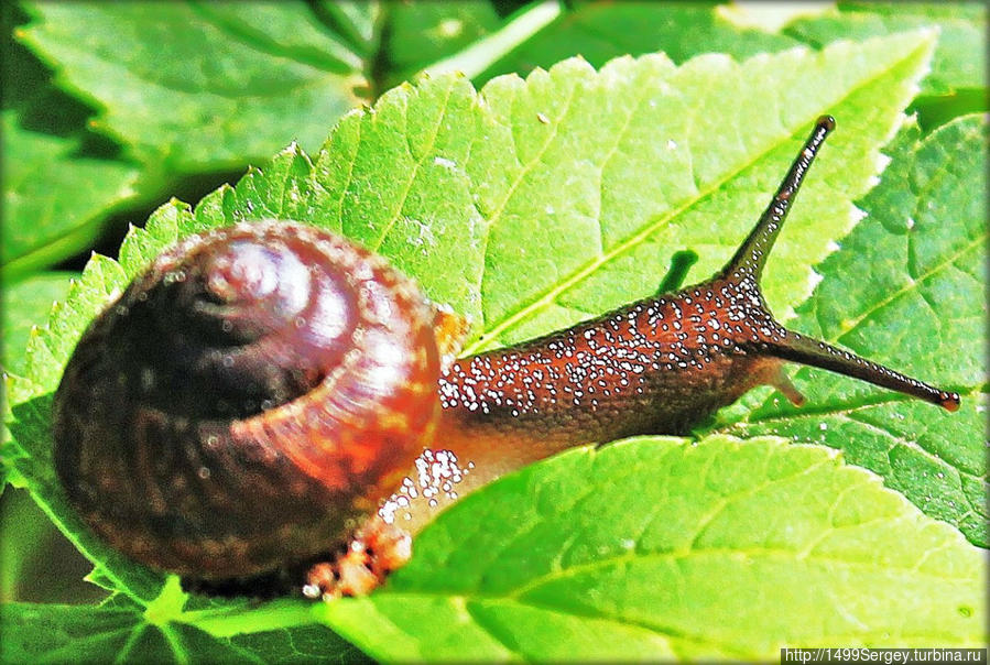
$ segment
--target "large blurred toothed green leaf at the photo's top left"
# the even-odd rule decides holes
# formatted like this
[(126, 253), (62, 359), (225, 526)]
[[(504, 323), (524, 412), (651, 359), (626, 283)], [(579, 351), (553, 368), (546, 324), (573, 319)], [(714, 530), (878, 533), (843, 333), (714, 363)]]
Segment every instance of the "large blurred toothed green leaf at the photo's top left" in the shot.
[[(98, 106), (94, 124), (143, 162), (240, 166), (316, 146), (360, 103), (363, 61), (305, 2), (28, 6), (20, 40)], [(366, 8), (359, 12), (370, 11)]]

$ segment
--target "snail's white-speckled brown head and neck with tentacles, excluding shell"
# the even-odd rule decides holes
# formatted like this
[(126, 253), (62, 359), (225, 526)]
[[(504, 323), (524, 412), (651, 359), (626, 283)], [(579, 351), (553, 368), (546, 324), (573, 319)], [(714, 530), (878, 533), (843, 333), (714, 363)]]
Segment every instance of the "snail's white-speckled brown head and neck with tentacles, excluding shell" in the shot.
[(505, 466), (505, 458), (525, 464), (577, 444), (687, 434), (757, 385), (773, 385), (802, 404), (782, 371), (785, 361), (955, 411), (956, 393), (787, 330), (760, 292), (768, 253), (834, 127), (831, 117), (818, 120), (766, 211), (707, 282), (455, 362), (439, 380), (437, 440), (464, 458)]

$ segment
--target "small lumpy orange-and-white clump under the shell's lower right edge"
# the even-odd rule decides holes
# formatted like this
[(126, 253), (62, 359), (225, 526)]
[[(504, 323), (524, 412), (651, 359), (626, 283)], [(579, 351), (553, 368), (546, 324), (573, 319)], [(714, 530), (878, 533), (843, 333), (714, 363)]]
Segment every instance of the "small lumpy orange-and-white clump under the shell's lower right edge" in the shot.
[(336, 558), (309, 567), (303, 596), (325, 601), (367, 596), (411, 556), (412, 536), (376, 515), (355, 532)]

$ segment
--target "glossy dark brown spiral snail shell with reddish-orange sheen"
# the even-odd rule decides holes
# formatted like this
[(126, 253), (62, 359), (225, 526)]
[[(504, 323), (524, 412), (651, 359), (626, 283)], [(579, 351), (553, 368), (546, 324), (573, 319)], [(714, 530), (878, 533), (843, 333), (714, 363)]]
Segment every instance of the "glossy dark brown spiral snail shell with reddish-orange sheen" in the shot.
[(287, 221), (189, 238), (88, 328), (55, 395), (83, 517), (228, 579), (331, 549), (435, 427), (433, 310), (381, 258)]

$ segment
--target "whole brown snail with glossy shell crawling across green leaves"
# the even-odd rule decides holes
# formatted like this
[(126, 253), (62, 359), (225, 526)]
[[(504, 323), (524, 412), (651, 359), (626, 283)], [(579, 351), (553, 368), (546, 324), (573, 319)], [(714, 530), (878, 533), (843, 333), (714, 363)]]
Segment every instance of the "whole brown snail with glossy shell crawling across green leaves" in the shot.
[[(711, 280), (455, 360), (466, 321), (388, 262), (292, 221), (159, 257), (94, 320), (54, 402), (72, 504), (111, 545), (213, 592), (365, 593), (438, 501), (562, 449), (684, 434), (786, 361), (955, 411), (959, 395), (785, 329), (768, 252), (820, 118)], [(442, 506), (440, 506), (442, 508)]]

